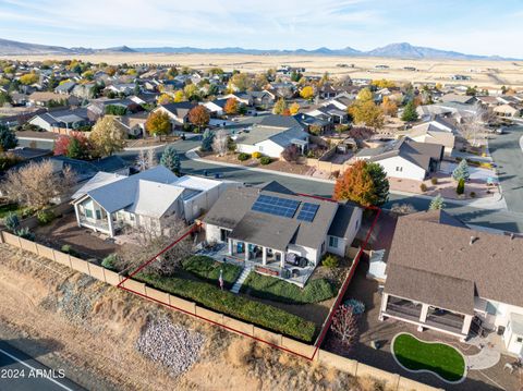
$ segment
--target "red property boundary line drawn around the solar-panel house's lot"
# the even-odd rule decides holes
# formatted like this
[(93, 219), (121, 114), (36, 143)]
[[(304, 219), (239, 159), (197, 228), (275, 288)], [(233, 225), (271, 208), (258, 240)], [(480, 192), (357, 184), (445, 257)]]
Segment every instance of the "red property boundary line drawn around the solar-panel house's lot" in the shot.
[[(319, 197), (319, 196), (313, 196), (313, 195), (308, 195), (308, 194), (300, 194), (300, 193), (296, 193), (297, 195), (300, 196), (305, 196), (305, 197), (312, 197), (312, 198), (316, 198), (316, 199), (323, 199), (323, 200), (329, 200), (329, 201), (335, 201), (333, 199), (330, 199), (330, 198), (325, 198), (325, 197)], [(153, 258), (148, 259), (146, 262), (144, 262), (143, 265), (141, 265), (136, 270), (134, 270), (132, 273), (130, 273), (125, 279), (123, 279), (118, 285), (117, 288), (121, 289), (121, 290), (124, 290), (124, 291), (127, 291), (127, 292), (131, 292), (131, 293), (134, 293), (135, 295), (137, 296), (141, 296), (141, 297), (144, 297), (144, 298), (147, 298), (151, 302), (155, 302), (157, 304), (161, 304), (166, 307), (170, 307), (172, 309), (175, 309), (178, 311), (181, 311), (181, 313), (184, 313), (186, 315), (190, 315), (190, 316), (193, 316), (197, 319), (200, 319), (200, 320), (205, 320), (214, 326), (218, 326), (218, 327), (221, 327), (222, 329), (226, 329), (226, 330), (229, 330), (229, 331), (232, 331), (232, 332), (235, 332), (235, 333), (239, 333), (241, 335), (244, 335), (244, 337), (248, 337), (248, 338), (252, 338), (253, 340), (257, 341), (257, 342), (262, 342), (262, 343), (265, 343), (271, 347), (275, 347), (275, 349), (279, 349), (283, 352), (287, 352), (287, 353), (291, 353), (295, 356), (299, 356), (299, 357), (302, 357), (302, 358), (305, 358), (307, 361), (314, 361), (314, 357), (316, 356), (316, 354), (318, 353), (318, 350), (319, 347), (321, 346), (321, 343), (324, 342), (326, 335), (327, 335), (327, 332), (329, 331), (329, 328), (330, 328), (330, 325), (332, 323), (332, 318), (336, 314), (336, 311), (338, 310), (338, 307), (340, 305), (340, 302), (341, 300), (343, 298), (348, 288), (349, 288), (349, 284), (351, 283), (352, 281), (352, 278), (355, 273), (355, 270), (356, 270), (356, 267), (357, 265), (360, 264), (360, 259), (361, 259), (361, 256), (362, 256), (362, 253), (365, 251), (366, 246), (367, 246), (367, 243), (368, 243), (368, 240), (370, 239), (370, 234), (373, 233), (374, 231), (374, 228), (376, 225), (376, 222), (378, 221), (378, 218), (381, 213), (381, 209), (380, 208), (377, 208), (377, 207), (366, 207), (365, 209), (370, 209), (370, 210), (375, 210), (376, 211), (376, 216), (373, 220), (373, 223), (370, 224), (370, 228), (365, 236), (365, 241), (363, 243), (363, 245), (361, 246), (360, 251), (357, 252), (357, 255), (356, 257), (354, 258), (354, 261), (353, 261), (353, 265), (351, 266), (351, 269), (349, 271), (349, 274), (346, 276), (345, 280), (343, 281), (343, 284), (340, 289), (340, 292), (338, 293), (338, 298), (336, 300), (333, 306), (331, 307), (331, 310), (330, 310), (330, 314), (329, 314), (329, 317), (327, 318), (326, 322), (324, 322), (324, 326), (320, 330), (320, 333), (319, 333), (319, 337), (317, 338), (316, 340), (316, 343), (313, 345), (315, 347), (314, 352), (313, 352), (313, 355), (311, 357), (308, 356), (305, 356), (301, 353), (297, 353), (297, 352), (294, 352), (292, 350), (289, 350), (287, 347), (283, 347), (283, 346), (280, 346), (280, 345), (277, 345), (272, 342), (269, 342), (269, 341), (266, 341), (266, 340), (263, 340), (260, 338), (257, 338), (257, 337), (254, 337), (254, 335), (250, 335), (241, 330), (236, 330), (234, 328), (231, 328), (229, 326), (226, 326), (226, 325), (221, 325), (221, 323), (218, 323), (217, 321), (214, 321), (211, 319), (208, 319), (208, 318), (205, 318), (203, 316), (199, 316), (199, 315), (196, 315), (196, 314), (193, 314), (193, 313), (190, 313), (183, 308), (180, 308), (180, 307), (177, 307), (177, 306), (173, 306), (169, 303), (165, 303), (165, 302), (161, 302), (159, 300), (156, 300), (154, 297), (149, 297), (143, 293), (139, 293), (139, 292), (136, 292), (134, 290), (131, 290), (129, 288), (125, 288), (123, 286), (124, 282), (130, 280), (133, 276), (135, 276), (136, 273), (138, 273), (141, 270), (143, 270), (147, 265), (151, 264), (153, 261), (155, 261), (160, 255), (162, 255), (163, 253), (166, 253), (167, 251), (169, 251), (170, 248), (174, 247), (178, 243), (180, 243), (182, 240), (184, 240), (185, 237), (187, 237), (190, 234), (192, 234), (193, 232), (195, 232), (202, 224), (200, 223), (196, 223), (194, 224), (193, 227), (191, 227), (190, 230), (187, 230), (183, 235), (181, 235), (180, 237), (178, 237), (174, 242), (172, 242), (170, 245), (168, 245), (166, 248), (163, 248), (161, 252), (159, 252), (157, 255), (155, 255)]]

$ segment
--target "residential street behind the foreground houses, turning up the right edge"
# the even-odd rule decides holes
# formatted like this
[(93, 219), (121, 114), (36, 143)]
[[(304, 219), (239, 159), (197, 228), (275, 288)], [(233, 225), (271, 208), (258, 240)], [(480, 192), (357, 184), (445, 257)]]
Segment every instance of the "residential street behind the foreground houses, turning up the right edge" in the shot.
[[(504, 155), (511, 157), (511, 159), (509, 160), (509, 162), (511, 163), (510, 166), (500, 163), (501, 166), (503, 166), (503, 169), (501, 171), (503, 172), (503, 170), (507, 170), (508, 172), (512, 172), (511, 175), (515, 175), (514, 173), (518, 172), (518, 161), (523, 161), (523, 155), (518, 155), (522, 154), (518, 142), (518, 134), (523, 135), (523, 127), (520, 127), (518, 132), (511, 132), (511, 134), (503, 134), (501, 136), (497, 136), (498, 138), (496, 140), (492, 140), (492, 144), (490, 146), (491, 149), (503, 148), (496, 150), (496, 152), (492, 154), (495, 155), (495, 161), (501, 159), (499, 156)], [(515, 140), (511, 142), (510, 137), (515, 138)], [(495, 142), (498, 140), (500, 143), (496, 147)], [(215, 175), (216, 173), (219, 173), (221, 178), (248, 184), (258, 184), (267, 181), (278, 181), (281, 184), (299, 193), (307, 193), (326, 197), (330, 197), (332, 195), (332, 185), (328, 183), (321, 183), (307, 179), (291, 178), (278, 173), (252, 171), (244, 168), (220, 167), (216, 163), (211, 164), (190, 160), (185, 157), (185, 152), (199, 146), (199, 140), (197, 139), (179, 140), (173, 143), (173, 145), (175, 145), (178, 151), (180, 152), (182, 160), (182, 171), (186, 174), (202, 175), (204, 174), (204, 171), (207, 171), (208, 175)], [(159, 147), (157, 149), (158, 155), (161, 155), (161, 151), (165, 147)], [(120, 155), (124, 159), (132, 162), (136, 159), (137, 154), (137, 150), (127, 150), (121, 152)], [(508, 180), (512, 179), (513, 182), (518, 182), (518, 180), (513, 179), (513, 176), (511, 175), (507, 174), (502, 175), (504, 179), (501, 178), (503, 194), (506, 192), (506, 188), (509, 187), (507, 185)], [(510, 203), (509, 198), (507, 200), (507, 203), (509, 204), (509, 211), (479, 209), (451, 201), (446, 203), (446, 210), (470, 224), (487, 227), (496, 230), (523, 232), (523, 187), (521, 187), (521, 185), (523, 185), (523, 179), (520, 181), (520, 185), (518, 185), (520, 186), (520, 188), (518, 190), (519, 193), (509, 188), (509, 197), (511, 200)], [(513, 187), (515, 186), (516, 185), (514, 184)], [(514, 200), (514, 198), (518, 197), (518, 194), (520, 197), (519, 208), (518, 201)], [(386, 208), (390, 208), (393, 204), (399, 203), (412, 204), (417, 210), (425, 210), (428, 208), (428, 205), (430, 203), (429, 199), (416, 195), (391, 194), (389, 198), (389, 203), (385, 205)]]

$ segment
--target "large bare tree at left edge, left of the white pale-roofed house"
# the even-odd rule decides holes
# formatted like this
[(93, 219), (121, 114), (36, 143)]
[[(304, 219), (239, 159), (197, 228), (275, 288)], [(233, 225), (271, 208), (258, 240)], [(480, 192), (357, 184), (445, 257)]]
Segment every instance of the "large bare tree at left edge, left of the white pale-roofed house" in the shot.
[(64, 166), (56, 172), (50, 160), (29, 162), (19, 170), (10, 170), (2, 183), (5, 196), (20, 205), (41, 209), (52, 198), (65, 194), (76, 183), (74, 172)]

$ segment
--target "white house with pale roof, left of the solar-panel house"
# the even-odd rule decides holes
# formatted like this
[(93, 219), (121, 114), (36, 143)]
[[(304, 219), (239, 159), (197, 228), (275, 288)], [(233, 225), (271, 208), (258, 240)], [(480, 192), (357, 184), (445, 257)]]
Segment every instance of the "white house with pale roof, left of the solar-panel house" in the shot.
[(163, 166), (125, 176), (97, 173), (72, 196), (78, 227), (113, 237), (125, 225), (161, 230), (166, 218), (193, 221), (236, 182), (178, 178)]

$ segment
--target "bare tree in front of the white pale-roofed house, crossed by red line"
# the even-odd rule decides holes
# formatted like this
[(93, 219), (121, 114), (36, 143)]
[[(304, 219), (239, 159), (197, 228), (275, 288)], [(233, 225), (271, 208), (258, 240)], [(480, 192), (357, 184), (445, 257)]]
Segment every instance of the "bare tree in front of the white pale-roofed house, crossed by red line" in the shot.
[[(183, 221), (174, 216), (161, 219), (161, 222), (150, 219), (148, 221), (141, 221), (136, 227), (129, 227), (125, 233), (130, 236), (133, 244), (122, 246), (119, 251), (118, 258), (121, 264), (119, 269), (133, 270), (137, 268), (139, 265), (162, 252), (188, 230)], [(158, 256), (144, 271), (161, 276), (171, 276), (180, 266), (181, 261), (191, 255), (192, 249), (191, 235), (188, 235)]]

